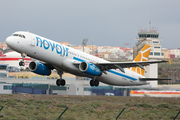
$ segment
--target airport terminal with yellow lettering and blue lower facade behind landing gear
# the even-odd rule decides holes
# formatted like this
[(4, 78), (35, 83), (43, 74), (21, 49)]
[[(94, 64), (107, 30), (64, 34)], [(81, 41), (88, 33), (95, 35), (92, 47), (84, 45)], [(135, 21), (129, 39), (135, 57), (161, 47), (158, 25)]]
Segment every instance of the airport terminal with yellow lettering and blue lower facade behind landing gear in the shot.
[[(63, 79), (66, 80), (65, 86), (56, 85), (57, 74), (55, 73), (52, 74), (51, 78), (26, 77), (36, 76), (36, 74), (32, 74), (31, 72), (9, 72), (8, 76), (8, 78), (0, 78), (0, 82), (10, 84), (12, 86), (11, 93), (13, 94), (129, 96), (130, 90), (141, 89), (141, 87), (110, 86), (104, 83), (100, 83), (98, 87), (91, 87), (89, 85), (89, 79), (82, 81), (80, 78), (68, 73), (64, 73), (63, 75)], [(16, 78), (15, 76), (20, 77)]]

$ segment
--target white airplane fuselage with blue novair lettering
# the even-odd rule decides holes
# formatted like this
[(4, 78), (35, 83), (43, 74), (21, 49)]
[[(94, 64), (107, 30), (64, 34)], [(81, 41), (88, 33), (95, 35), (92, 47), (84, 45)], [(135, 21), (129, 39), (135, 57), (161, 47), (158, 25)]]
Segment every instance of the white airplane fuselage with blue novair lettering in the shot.
[[(87, 61), (94, 64), (109, 62), (33, 33), (15, 32), (14, 34), (22, 34), (25, 36), (25, 38), (9, 36), (6, 39), (6, 43), (11, 49), (51, 64), (57, 70), (62, 70), (77, 76), (90, 78), (95, 77), (82, 73), (82, 71), (80, 71), (79, 68), (74, 65), (74, 63), (81, 63), (82, 61)], [(143, 78), (144, 76), (127, 68), (124, 70), (125, 73), (121, 72), (119, 69), (111, 69), (107, 71), (107, 74), (102, 73), (101, 76), (96, 76), (96, 79), (100, 82), (117, 86), (147, 84), (147, 82), (139, 81), (139, 78)]]

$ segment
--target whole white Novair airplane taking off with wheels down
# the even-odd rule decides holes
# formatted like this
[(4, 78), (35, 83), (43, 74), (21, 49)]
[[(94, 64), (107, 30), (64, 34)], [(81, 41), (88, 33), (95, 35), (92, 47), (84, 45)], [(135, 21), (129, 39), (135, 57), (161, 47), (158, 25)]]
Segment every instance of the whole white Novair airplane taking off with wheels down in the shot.
[(26, 56), (39, 61), (31, 61), (29, 69), (39, 75), (50, 75), (56, 69), (60, 79), (57, 86), (64, 86), (66, 81), (62, 78), (64, 72), (76, 76), (89, 77), (90, 86), (99, 86), (99, 82), (114, 86), (147, 85), (151, 80), (170, 80), (161, 78), (145, 78), (145, 67), (154, 63), (169, 62), (171, 60), (147, 61), (151, 46), (145, 45), (133, 62), (110, 62), (96, 56), (84, 53), (71, 47), (62, 45), (45, 37), (17, 31), (7, 37), (6, 44), (21, 53), (24, 65)]

